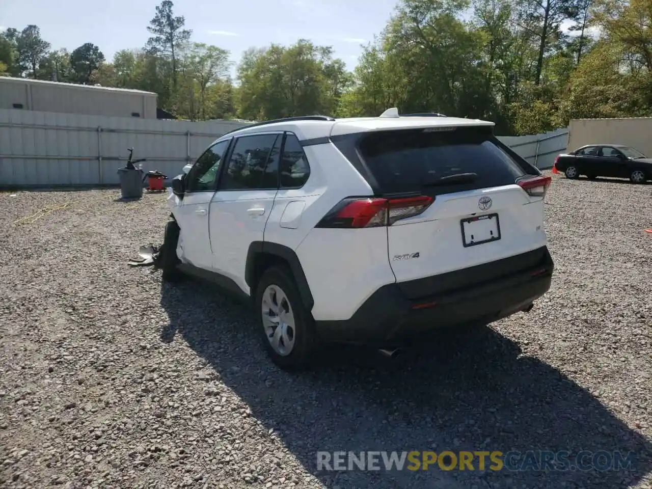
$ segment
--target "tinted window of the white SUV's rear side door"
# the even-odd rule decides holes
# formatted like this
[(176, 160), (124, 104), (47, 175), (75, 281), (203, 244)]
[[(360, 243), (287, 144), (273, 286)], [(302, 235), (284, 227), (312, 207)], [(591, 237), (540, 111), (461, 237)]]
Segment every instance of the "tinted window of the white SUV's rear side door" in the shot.
[[(278, 134), (259, 134), (241, 136), (235, 141), (229, 164), (222, 176), (220, 190), (253, 190), (268, 188), (266, 175), (267, 160), (273, 156), (273, 148)], [(278, 150), (277, 150), (278, 151)], [(273, 172), (272, 172), (273, 173)], [(269, 188), (276, 188), (274, 182)]]

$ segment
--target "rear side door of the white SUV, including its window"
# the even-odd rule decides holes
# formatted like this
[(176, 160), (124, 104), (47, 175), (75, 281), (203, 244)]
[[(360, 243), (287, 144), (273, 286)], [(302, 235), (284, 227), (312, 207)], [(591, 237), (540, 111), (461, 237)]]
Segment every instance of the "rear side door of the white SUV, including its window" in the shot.
[(250, 293), (244, 281), (247, 250), (252, 241), (263, 241), (278, 192), (281, 141), (279, 133), (238, 138), (211, 200), (212, 267), (245, 293)]

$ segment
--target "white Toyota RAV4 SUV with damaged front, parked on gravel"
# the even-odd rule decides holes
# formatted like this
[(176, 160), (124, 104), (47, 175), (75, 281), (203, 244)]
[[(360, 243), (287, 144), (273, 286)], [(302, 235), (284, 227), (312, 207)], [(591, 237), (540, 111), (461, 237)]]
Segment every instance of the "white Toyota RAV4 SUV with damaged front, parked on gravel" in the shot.
[(246, 297), (284, 368), (323, 341), (396, 349), (548, 291), (550, 182), (486, 121), (390, 109), (256, 123), (173, 180), (163, 277)]

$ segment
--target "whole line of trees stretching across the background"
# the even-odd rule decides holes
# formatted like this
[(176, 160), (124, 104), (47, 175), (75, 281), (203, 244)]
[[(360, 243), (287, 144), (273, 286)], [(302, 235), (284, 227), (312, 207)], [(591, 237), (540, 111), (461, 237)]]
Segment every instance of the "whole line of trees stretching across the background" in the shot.
[(52, 50), (36, 25), (0, 33), (0, 74), (153, 91), (183, 119), (436, 111), (537, 134), (583, 117), (652, 115), (652, 0), (398, 0), (352, 72), (299, 39), (243, 53), (192, 41), (173, 3), (143, 48), (107, 61)]

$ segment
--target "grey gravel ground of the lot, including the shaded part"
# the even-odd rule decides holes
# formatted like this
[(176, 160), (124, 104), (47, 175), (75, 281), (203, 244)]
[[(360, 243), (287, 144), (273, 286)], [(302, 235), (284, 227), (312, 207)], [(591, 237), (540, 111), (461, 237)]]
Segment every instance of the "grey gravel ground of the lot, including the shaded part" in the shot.
[[(396, 361), (330, 348), (294, 375), (267, 360), (243, 306), (127, 267), (160, 241), (165, 196), (0, 194), (0, 486), (651, 488), (651, 194), (556, 177), (554, 284), (529, 314)], [(318, 450), (481, 449), (635, 458), (619, 471), (316, 468)]]

